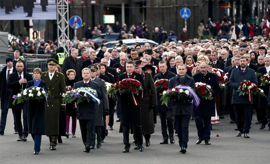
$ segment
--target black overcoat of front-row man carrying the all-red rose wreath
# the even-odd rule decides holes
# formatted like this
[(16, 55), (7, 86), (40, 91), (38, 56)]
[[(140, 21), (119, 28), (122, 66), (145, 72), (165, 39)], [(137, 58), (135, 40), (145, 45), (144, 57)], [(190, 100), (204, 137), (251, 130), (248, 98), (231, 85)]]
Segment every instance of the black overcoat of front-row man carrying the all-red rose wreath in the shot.
[[(119, 76), (119, 81), (127, 78), (126, 74), (122, 74)], [(143, 76), (139, 73), (134, 72), (134, 76), (132, 79), (140, 81), (142, 84), (143, 91), (145, 92), (145, 85)], [(121, 112), (121, 124), (122, 125), (141, 125), (141, 112), (140, 106), (133, 105), (133, 101), (131, 99), (131, 94), (122, 93), (119, 95), (120, 97), (120, 112)], [(134, 97), (137, 97), (139, 104), (141, 105), (141, 91), (139, 94), (134, 94)]]

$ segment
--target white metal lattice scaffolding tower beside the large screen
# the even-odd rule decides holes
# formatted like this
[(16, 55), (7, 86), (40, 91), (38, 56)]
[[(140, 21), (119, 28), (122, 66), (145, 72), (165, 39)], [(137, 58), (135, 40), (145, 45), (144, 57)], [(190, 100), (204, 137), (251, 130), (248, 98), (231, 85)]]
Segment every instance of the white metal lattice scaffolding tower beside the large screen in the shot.
[(57, 37), (58, 47), (64, 48), (64, 52), (69, 55), (69, 0), (57, 1)]

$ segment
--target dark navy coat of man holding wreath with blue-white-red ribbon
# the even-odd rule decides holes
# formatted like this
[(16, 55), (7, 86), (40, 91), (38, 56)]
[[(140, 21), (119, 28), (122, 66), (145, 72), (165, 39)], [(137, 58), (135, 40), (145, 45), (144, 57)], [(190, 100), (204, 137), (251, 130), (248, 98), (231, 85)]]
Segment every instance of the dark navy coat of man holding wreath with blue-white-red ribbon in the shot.
[[(180, 85), (179, 76), (173, 77), (170, 79), (169, 88), (173, 88), (174, 86)], [(181, 84), (182, 85), (182, 84)], [(185, 78), (183, 85), (188, 85), (195, 90), (194, 78), (187, 75)], [(192, 103), (180, 103), (178, 101), (173, 100), (172, 107), (169, 104), (168, 108), (173, 109), (173, 115), (182, 115), (182, 114), (192, 114)]]

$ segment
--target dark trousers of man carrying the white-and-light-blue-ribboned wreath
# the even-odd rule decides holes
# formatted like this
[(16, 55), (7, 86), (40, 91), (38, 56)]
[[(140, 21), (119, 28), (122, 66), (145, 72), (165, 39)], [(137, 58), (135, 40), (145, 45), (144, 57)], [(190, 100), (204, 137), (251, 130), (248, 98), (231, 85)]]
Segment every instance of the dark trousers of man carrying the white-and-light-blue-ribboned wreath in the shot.
[(91, 143), (95, 142), (94, 121), (94, 119), (79, 119), (82, 140), (85, 146), (91, 146)]

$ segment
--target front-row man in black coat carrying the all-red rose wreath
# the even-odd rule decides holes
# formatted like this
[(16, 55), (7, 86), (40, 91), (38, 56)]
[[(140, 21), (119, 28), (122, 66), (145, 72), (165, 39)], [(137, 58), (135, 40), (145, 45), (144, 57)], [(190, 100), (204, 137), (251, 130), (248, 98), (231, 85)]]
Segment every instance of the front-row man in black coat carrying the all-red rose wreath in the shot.
[[(144, 80), (143, 76), (139, 73), (134, 72), (134, 62), (129, 60), (126, 62), (126, 73), (119, 76), (119, 81), (131, 78), (138, 80), (142, 84), (143, 91), (139, 91), (138, 95), (133, 94), (134, 97), (137, 98), (139, 104), (142, 92), (145, 92)], [(120, 111), (121, 111), (121, 124), (123, 129), (123, 137), (125, 148), (123, 153), (129, 152), (130, 144), (129, 144), (129, 132), (130, 126), (134, 127), (134, 132), (138, 138), (139, 150), (142, 152), (143, 147), (143, 136), (141, 129), (141, 112), (140, 105), (134, 105), (132, 100), (132, 95), (130, 93), (120, 93)]]

